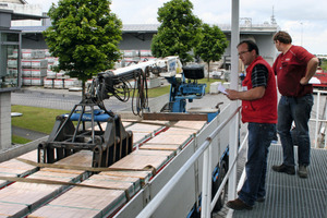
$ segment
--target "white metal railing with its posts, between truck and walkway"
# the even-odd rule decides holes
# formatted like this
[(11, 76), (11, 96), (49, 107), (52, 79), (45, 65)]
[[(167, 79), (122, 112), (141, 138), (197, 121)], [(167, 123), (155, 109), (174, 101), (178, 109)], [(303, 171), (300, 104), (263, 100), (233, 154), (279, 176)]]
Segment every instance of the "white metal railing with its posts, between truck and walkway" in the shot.
[[(181, 167), (177, 173), (165, 184), (165, 186), (158, 192), (158, 194), (147, 204), (147, 206), (137, 215), (137, 218), (147, 218), (150, 217), (154, 211), (159, 207), (159, 205), (164, 202), (164, 199), (169, 195), (169, 193), (173, 190), (175, 184), (181, 180), (184, 173), (198, 160), (198, 158), (204, 155), (203, 161), (203, 187), (202, 187), (202, 217), (210, 217), (208, 216), (220, 193), (222, 192), (223, 185), (227, 182), (227, 178), (225, 177), (222, 184), (219, 186), (218, 192), (215, 195), (215, 198), (211, 201), (211, 141), (219, 134), (219, 132), (226, 128), (226, 125), (234, 118), (238, 120), (239, 112), (241, 107), (238, 107), (235, 111), (233, 111), (229, 118), (227, 118), (222, 123), (218, 125), (217, 129), (205, 140), (205, 142), (198, 147), (198, 149), (191, 156), (191, 158)], [(239, 130), (237, 130), (239, 131)], [(234, 161), (235, 162), (235, 161)], [(233, 164), (234, 166), (234, 164)], [(228, 175), (231, 170), (228, 171)]]

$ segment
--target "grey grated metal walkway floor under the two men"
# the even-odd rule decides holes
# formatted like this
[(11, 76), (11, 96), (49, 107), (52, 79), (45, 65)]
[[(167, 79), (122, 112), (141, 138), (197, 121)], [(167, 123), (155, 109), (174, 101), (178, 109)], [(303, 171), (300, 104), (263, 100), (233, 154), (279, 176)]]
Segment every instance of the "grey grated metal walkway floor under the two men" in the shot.
[[(294, 155), (298, 157), (296, 148)], [(233, 218), (327, 218), (327, 149), (311, 149), (307, 179), (271, 170), (281, 162), (281, 146), (271, 145), (266, 201), (252, 210), (234, 210)]]

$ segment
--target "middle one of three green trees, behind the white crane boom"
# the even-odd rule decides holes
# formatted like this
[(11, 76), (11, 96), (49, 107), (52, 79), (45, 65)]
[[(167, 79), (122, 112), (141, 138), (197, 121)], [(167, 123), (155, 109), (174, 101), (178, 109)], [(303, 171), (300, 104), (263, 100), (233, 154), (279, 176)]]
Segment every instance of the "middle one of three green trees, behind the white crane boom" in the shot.
[(161, 25), (152, 43), (155, 57), (179, 56), (182, 63), (192, 61), (190, 53), (196, 45), (202, 21), (193, 13), (189, 0), (171, 0), (158, 10)]

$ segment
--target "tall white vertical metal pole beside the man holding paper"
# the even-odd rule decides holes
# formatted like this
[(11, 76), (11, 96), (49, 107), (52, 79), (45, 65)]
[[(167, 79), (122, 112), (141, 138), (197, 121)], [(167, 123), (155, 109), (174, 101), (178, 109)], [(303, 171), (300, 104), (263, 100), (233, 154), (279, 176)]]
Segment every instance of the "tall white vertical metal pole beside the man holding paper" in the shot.
[[(240, 41), (240, 28), (239, 28), (239, 20), (240, 20), (240, 1), (232, 0), (232, 21), (231, 21), (231, 88), (238, 89), (238, 75), (239, 75), (239, 56), (237, 46)], [(233, 111), (238, 107), (238, 101), (231, 102), (231, 111)], [(229, 166), (235, 160), (238, 153), (238, 130), (239, 130), (239, 117), (234, 117), (230, 123), (230, 145), (229, 145)], [(237, 168), (232, 169), (229, 183), (228, 183), (228, 199), (234, 199), (237, 196)]]

